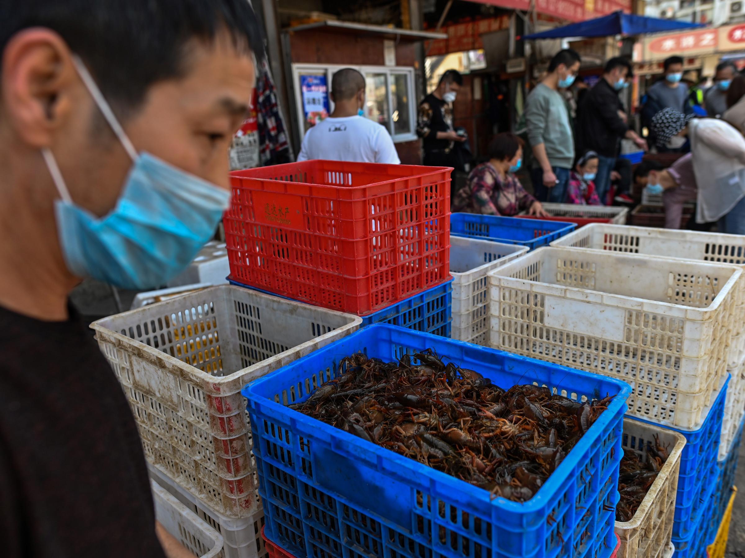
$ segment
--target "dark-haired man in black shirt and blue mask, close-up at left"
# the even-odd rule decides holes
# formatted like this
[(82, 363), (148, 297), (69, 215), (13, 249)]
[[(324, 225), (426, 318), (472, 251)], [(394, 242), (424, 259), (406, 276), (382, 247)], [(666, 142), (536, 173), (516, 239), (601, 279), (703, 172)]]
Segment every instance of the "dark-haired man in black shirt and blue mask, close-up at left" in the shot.
[(245, 0), (24, 0), (0, 45), (3, 556), (190, 557), (68, 296), (165, 283), (212, 237), (259, 26)]

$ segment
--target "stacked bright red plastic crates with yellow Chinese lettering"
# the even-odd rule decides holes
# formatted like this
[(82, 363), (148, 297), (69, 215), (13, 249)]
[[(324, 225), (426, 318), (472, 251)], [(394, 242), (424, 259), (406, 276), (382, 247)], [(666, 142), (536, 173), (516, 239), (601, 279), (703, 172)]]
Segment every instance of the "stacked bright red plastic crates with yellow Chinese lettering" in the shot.
[(343, 161), (231, 173), (229, 278), (357, 315), (442, 283), (450, 173)]

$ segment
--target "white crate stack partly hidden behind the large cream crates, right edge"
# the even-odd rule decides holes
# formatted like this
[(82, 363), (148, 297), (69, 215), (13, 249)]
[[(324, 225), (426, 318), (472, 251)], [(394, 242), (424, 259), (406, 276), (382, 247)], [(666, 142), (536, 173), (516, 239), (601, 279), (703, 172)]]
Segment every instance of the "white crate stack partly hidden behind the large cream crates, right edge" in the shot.
[[(551, 246), (679, 257), (685, 260), (729, 263), (745, 268), (745, 237), (739, 234), (587, 225), (555, 240)], [(738, 281), (730, 305), (732, 318), (729, 327), (717, 332), (717, 336), (726, 339), (727, 371), (732, 376), (722, 424), (720, 460), (732, 443), (745, 413), (745, 273)]]

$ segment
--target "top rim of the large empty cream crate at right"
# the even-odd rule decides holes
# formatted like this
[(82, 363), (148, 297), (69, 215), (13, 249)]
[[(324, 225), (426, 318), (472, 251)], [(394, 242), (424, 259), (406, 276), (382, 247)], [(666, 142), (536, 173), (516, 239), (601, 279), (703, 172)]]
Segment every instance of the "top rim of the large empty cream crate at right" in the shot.
[[(593, 253), (594, 255), (609, 254), (612, 257), (617, 257), (618, 259), (621, 259), (624, 257), (630, 257), (634, 260), (644, 260), (644, 259), (649, 260), (649, 258), (652, 257), (647, 254), (633, 254), (631, 252), (617, 252), (617, 251), (608, 251), (608, 250), (587, 250), (586, 248), (577, 248), (576, 246), (539, 246), (538, 248), (535, 248), (533, 251), (530, 251), (529, 254), (532, 255), (539, 251), (556, 251), (556, 250), (562, 250), (562, 251), (568, 250), (571, 252), (577, 252), (577, 254), (589, 254), (589, 253)], [(686, 260), (685, 258), (682, 258), (682, 257), (673, 257), (673, 258), (662, 257), (662, 259), (663, 260), (677, 260), (679, 262), (695, 263), (697, 265), (703, 264), (705, 266), (729, 267), (729, 268), (732, 268), (732, 270), (735, 271), (735, 273), (730, 275), (729, 279), (726, 280), (726, 283), (724, 283), (724, 285), (719, 290), (719, 292), (717, 292), (717, 296), (715, 296), (711, 300), (711, 304), (709, 304), (707, 307), (686, 306), (685, 304), (675, 304), (673, 302), (656, 301), (653, 298), (639, 298), (637, 296), (629, 296), (629, 295), (612, 295), (608, 292), (596, 291), (593, 289), (583, 289), (577, 286), (561, 285), (559, 286), (559, 288), (565, 289), (571, 292), (580, 292), (580, 293), (583, 291), (597, 292), (598, 295), (603, 295), (603, 296), (607, 295), (607, 296), (612, 296), (613, 298), (621, 298), (626, 301), (634, 301), (634, 302), (641, 302), (641, 303), (652, 302), (655, 305), (660, 305), (660, 306), (670, 307), (670, 308), (678, 307), (678, 308), (685, 308), (688, 310), (709, 311), (709, 310), (717, 310), (717, 308), (720, 307), (720, 305), (724, 301), (724, 298), (726, 296), (729, 296), (729, 294), (734, 291), (736, 283), (738, 283), (738, 281), (741, 278), (741, 275), (743, 274), (743, 270), (740, 268), (740, 266), (735, 266), (729, 263), (707, 262), (703, 260)], [(513, 260), (511, 262), (505, 263), (503, 267), (495, 269), (493, 272), (489, 272), (489, 275), (494, 275), (496, 277), (514, 280), (513, 278), (507, 277), (507, 275), (502, 275), (502, 274), (504, 273), (504, 269), (512, 266), (513, 263), (515, 263), (516, 261), (517, 260)], [(530, 279), (518, 279), (518, 280), (522, 281), (523, 283), (528, 283), (530, 285), (546, 284), (544, 281), (533, 281)], [(548, 284), (551, 284), (551, 286), (557, 286), (557, 285), (554, 285), (554, 283), (548, 283)], [(725, 293), (724, 288), (727, 285), (729, 285), (729, 289)], [(577, 299), (577, 300), (581, 300), (581, 299)], [(644, 310), (644, 308), (641, 308), (641, 312), (660, 313), (660, 312), (655, 312), (654, 310)], [(640, 419), (640, 420), (644, 420), (644, 419)]]

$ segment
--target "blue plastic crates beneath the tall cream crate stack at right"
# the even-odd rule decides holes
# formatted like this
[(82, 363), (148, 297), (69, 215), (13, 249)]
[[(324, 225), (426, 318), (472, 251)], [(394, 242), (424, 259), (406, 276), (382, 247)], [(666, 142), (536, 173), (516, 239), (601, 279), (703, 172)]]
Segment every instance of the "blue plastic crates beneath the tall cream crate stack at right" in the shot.
[[(722, 434), (724, 402), (729, 375), (706, 412), (703, 425), (694, 431), (671, 429), (685, 436), (685, 447), (680, 455), (678, 490), (675, 496), (673, 538), (685, 541), (694, 533), (701, 516), (712, 507), (711, 498), (719, 481), (719, 440)], [(644, 422), (654, 424), (648, 420)], [(677, 549), (676, 545), (676, 549)]]

